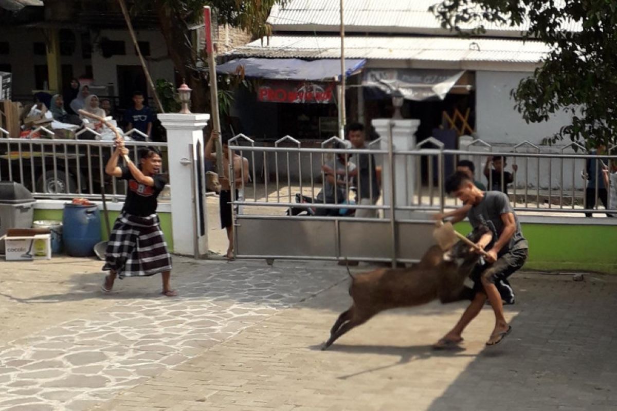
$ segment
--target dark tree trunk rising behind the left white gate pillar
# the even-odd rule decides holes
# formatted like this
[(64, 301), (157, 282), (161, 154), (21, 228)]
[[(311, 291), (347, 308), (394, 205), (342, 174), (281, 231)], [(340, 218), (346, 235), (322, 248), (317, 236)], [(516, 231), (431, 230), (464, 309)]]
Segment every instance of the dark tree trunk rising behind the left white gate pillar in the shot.
[(186, 28), (186, 22), (160, 3), (156, 1), (155, 7), (158, 10), (160, 30), (165, 38), (169, 56), (176, 71), (193, 89), (191, 111), (209, 113), (210, 89), (204, 76), (196, 70), (195, 51), (193, 46), (189, 44), (191, 33)]

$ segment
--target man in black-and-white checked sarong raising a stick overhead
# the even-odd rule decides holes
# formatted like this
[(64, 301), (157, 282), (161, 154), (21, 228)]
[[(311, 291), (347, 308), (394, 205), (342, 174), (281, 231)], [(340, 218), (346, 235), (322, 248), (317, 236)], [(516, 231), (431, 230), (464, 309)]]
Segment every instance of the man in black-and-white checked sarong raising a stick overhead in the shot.
[[(123, 140), (118, 138), (115, 144), (116, 149), (107, 162), (105, 172), (128, 181), (128, 191), (122, 212), (107, 242), (103, 270), (109, 271), (109, 275), (105, 277), (102, 290), (112, 290), (116, 275), (123, 279), (161, 272), (162, 294), (176, 296), (178, 293), (170, 285), (172, 258), (156, 214), (157, 197), (167, 184), (160, 174), (161, 154), (154, 147), (146, 147), (139, 153), (138, 167), (128, 158)], [(125, 158), (125, 167), (118, 167), (120, 156)]]

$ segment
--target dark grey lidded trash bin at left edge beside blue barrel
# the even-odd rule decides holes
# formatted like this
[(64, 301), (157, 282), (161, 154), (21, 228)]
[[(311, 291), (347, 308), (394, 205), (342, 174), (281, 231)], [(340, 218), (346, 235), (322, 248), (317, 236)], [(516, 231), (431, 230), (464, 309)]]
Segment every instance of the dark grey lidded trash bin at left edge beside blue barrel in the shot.
[[(14, 181), (0, 181), (0, 237), (8, 229), (29, 229), (34, 219), (36, 200), (26, 187)], [(4, 241), (0, 242), (4, 253)]]

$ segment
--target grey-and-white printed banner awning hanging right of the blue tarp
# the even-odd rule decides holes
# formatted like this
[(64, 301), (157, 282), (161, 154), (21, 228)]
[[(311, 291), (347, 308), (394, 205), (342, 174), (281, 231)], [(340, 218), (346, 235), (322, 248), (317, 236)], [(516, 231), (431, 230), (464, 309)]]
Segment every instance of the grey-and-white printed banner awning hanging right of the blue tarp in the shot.
[(371, 69), (364, 72), (362, 86), (376, 87), (386, 94), (399, 89), (407, 100), (443, 100), (463, 73), (465, 70)]

